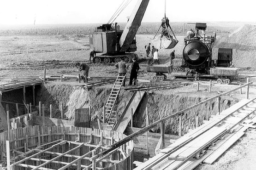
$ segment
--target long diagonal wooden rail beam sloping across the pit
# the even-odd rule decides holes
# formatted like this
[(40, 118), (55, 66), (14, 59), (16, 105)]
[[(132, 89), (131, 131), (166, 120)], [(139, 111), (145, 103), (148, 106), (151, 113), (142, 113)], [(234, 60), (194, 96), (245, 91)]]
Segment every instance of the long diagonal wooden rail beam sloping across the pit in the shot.
[[(204, 103), (207, 103), (207, 102), (209, 102), (209, 101), (211, 101), (211, 100), (214, 100), (214, 99), (216, 99), (217, 97), (220, 97), (220, 96), (229, 94), (229, 93), (231, 93), (232, 91), (236, 91), (236, 90), (238, 90), (238, 89), (240, 89), (240, 88), (242, 88), (242, 87), (245, 87), (245, 86), (247, 86), (247, 85), (250, 85), (250, 84), (252, 84), (252, 83), (253, 83), (253, 82), (251, 81), (251, 82), (249, 82), (249, 83), (246, 83), (246, 84), (242, 85), (241, 87), (237, 87), (237, 88), (232, 89), (232, 90), (230, 90), (230, 91), (226, 91), (226, 92), (224, 92), (224, 93), (221, 93), (220, 95), (210, 97), (210, 98), (208, 98), (208, 99), (206, 99), (206, 100), (204, 100), (204, 101), (202, 101), (202, 102), (199, 102), (199, 103), (197, 103), (197, 104), (195, 104), (195, 105), (193, 105), (193, 106), (191, 106), (191, 107), (185, 108), (185, 109), (180, 110), (179, 112), (173, 113), (173, 114), (171, 114), (171, 115), (169, 115), (169, 116), (167, 116), (167, 117), (165, 117), (165, 118), (163, 118), (163, 119), (160, 119), (160, 120), (158, 120), (158, 121), (155, 121), (155, 122), (152, 123), (151, 125), (146, 126), (146, 127), (142, 128), (141, 130), (138, 130), (137, 132), (135, 132), (135, 133), (133, 133), (133, 134), (131, 134), (131, 135), (129, 135), (129, 136), (126, 136), (124, 139), (122, 139), (122, 140), (120, 140), (120, 141), (114, 143), (114, 144), (111, 146), (111, 148), (109, 148), (109, 149), (103, 151), (102, 153), (98, 153), (97, 155), (91, 157), (91, 158), (90, 158), (90, 161), (92, 161), (93, 159), (97, 159), (99, 156), (102, 156), (102, 155), (105, 155), (105, 154), (109, 153), (110, 151), (114, 150), (114, 149), (117, 148), (117, 147), (122, 146), (122, 145), (125, 144), (126, 142), (131, 141), (134, 137), (140, 136), (141, 134), (145, 133), (146, 131), (152, 129), (152, 127), (154, 127), (155, 125), (157, 125), (157, 124), (159, 124), (159, 123), (161, 123), (161, 122), (163, 122), (163, 121), (165, 121), (165, 120), (167, 120), (167, 119), (173, 118), (174, 116), (178, 116), (178, 115), (184, 113), (185, 111), (191, 110), (192, 108), (196, 108), (197, 106), (200, 106), (201, 104), (204, 104)], [(253, 99), (253, 100), (255, 100), (255, 99)], [(253, 101), (253, 100), (251, 100), (251, 101)], [(228, 116), (228, 115), (227, 115), (227, 116)]]

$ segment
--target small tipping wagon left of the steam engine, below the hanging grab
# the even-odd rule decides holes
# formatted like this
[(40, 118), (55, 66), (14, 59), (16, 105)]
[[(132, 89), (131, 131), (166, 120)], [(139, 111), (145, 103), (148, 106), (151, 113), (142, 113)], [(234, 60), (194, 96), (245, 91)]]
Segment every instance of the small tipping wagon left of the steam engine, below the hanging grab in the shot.
[[(153, 76), (153, 80), (164, 80), (167, 79), (166, 74), (171, 74), (173, 71), (173, 66), (168, 66), (168, 65), (149, 65), (147, 67), (147, 71), (149, 73), (155, 73), (155, 76)], [(166, 73), (166, 74), (165, 74)]]

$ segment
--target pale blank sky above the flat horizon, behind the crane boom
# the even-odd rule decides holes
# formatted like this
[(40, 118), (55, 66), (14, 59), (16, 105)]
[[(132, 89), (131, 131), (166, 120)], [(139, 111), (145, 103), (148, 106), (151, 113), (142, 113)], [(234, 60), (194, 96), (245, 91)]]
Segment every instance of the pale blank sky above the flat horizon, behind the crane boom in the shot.
[[(0, 0), (0, 24), (107, 23), (123, 0)], [(132, 0), (116, 22), (126, 22)], [(195, 4), (196, 3), (196, 4)], [(255, 0), (167, 0), (171, 22), (256, 22)], [(161, 22), (164, 0), (150, 0), (143, 22)]]

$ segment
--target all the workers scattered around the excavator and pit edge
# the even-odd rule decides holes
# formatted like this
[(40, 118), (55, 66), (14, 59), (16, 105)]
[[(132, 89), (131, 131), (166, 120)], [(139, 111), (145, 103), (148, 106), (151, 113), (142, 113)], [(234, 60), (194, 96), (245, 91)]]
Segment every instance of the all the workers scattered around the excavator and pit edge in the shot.
[[(154, 63), (157, 62), (159, 64), (159, 55), (158, 55), (158, 49), (156, 49), (154, 46), (152, 46), (152, 50), (150, 50), (150, 43), (148, 45), (145, 45), (145, 49), (146, 49), (146, 55), (147, 57), (149, 57), (150, 51), (151, 51), (151, 57), (153, 57)], [(173, 59), (175, 58), (175, 54), (174, 54), (175, 50), (173, 50), (170, 53), (170, 62), (169, 65), (173, 65)], [(89, 62), (91, 62), (91, 58), (95, 57), (96, 52), (93, 50), (90, 52), (89, 54)], [(85, 83), (88, 82), (88, 76), (89, 76), (89, 66), (86, 63), (79, 63), (79, 71), (83, 71), (83, 81)], [(115, 67), (119, 69), (119, 75), (120, 76), (125, 76), (126, 75), (126, 69), (129, 68), (129, 65), (126, 64), (125, 62), (125, 58), (122, 58), (122, 60), (118, 63), (115, 64)], [(129, 81), (129, 85), (132, 85), (132, 81), (133, 84), (136, 85), (136, 79), (137, 79), (137, 74), (139, 71), (140, 67), (139, 67), (139, 63), (136, 61), (136, 58), (132, 58), (132, 64), (131, 64), (131, 75), (130, 75), (130, 81)], [(125, 81), (123, 83), (123, 86), (125, 86)]]

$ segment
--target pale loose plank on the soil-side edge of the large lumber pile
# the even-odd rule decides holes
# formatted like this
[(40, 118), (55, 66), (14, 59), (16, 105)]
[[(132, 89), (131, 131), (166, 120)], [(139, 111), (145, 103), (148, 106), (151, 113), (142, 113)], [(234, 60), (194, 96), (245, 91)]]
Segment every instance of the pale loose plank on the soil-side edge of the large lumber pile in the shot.
[(215, 150), (208, 158), (206, 158), (203, 163), (213, 164), (216, 159), (218, 159), (226, 150), (231, 147), (235, 142), (238, 141), (240, 137), (244, 135), (244, 132), (238, 132), (231, 136), (225, 143), (223, 143), (218, 149)]

